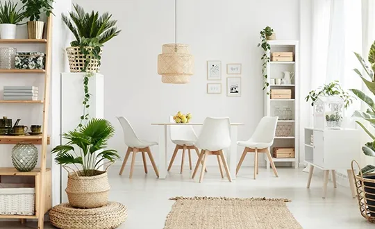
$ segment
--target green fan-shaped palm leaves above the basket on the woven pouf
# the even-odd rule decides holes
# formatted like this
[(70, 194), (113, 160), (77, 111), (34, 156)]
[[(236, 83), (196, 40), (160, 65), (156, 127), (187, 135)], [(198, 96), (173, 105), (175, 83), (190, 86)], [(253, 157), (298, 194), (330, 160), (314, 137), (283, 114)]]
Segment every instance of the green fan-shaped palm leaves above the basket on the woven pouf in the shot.
[(56, 146), (56, 163), (74, 165), (79, 176), (94, 176), (103, 160), (115, 162), (119, 159), (117, 151), (106, 149), (108, 139), (113, 137), (115, 128), (105, 119), (91, 119), (80, 130), (63, 134), (67, 144)]

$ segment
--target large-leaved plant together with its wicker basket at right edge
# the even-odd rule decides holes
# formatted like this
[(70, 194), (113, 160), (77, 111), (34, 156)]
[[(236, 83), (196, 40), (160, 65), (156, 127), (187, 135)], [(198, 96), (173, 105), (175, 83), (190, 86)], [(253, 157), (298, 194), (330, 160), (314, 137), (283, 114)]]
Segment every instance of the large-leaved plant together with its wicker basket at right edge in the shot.
[[(355, 54), (360, 64), (363, 66), (365, 74), (362, 74), (358, 69), (354, 69), (354, 71), (356, 71), (356, 74), (360, 76), (363, 83), (365, 83), (369, 92), (372, 94), (367, 95), (361, 90), (351, 89), (351, 92), (353, 92), (358, 99), (362, 100), (368, 106), (365, 112), (356, 110), (353, 113), (353, 117), (362, 118), (367, 121), (372, 128), (375, 128), (375, 101), (372, 99), (372, 97), (375, 95), (375, 42), (372, 44), (369, 51), (368, 60), (370, 64), (368, 64), (365, 59), (360, 56), (360, 54)], [(364, 146), (362, 146), (363, 153), (365, 153), (367, 156), (375, 157), (374, 130), (367, 129), (360, 121), (356, 122), (371, 138), (371, 142), (367, 142)], [(369, 221), (375, 222), (375, 166), (373, 164), (368, 164), (366, 167), (361, 169), (360, 174), (356, 176), (356, 180), (358, 181), (357, 184), (360, 184), (360, 188), (358, 189), (361, 189), (361, 192), (358, 190), (358, 201), (360, 202), (361, 214)]]

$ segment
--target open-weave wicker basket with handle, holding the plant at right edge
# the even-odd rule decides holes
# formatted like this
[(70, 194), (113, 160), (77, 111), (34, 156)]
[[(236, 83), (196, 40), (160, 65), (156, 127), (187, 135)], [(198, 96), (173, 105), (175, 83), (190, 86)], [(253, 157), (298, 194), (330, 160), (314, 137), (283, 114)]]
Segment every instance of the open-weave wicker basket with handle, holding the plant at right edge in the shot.
[[(357, 164), (360, 173), (358, 175), (354, 171), (354, 163)], [(356, 180), (357, 198), (360, 207), (360, 214), (367, 219), (367, 221), (375, 223), (375, 173), (366, 174), (360, 170), (360, 166), (356, 160), (351, 162), (351, 171), (353, 171), (354, 180)], [(373, 179), (366, 178), (368, 176)]]

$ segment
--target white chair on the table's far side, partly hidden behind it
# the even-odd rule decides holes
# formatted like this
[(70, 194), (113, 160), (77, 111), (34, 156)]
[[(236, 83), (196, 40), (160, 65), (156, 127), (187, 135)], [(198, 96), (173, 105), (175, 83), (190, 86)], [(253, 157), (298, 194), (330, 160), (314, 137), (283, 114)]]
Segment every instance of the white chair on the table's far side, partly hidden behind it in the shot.
[[(173, 117), (169, 117), (169, 121), (174, 123)], [(178, 153), (178, 150), (182, 149), (182, 156), (181, 156), (181, 170), (180, 173), (183, 173), (183, 164), (185, 160), (185, 151), (188, 150), (189, 156), (189, 168), (192, 170), (192, 154), (190, 150), (194, 150), (197, 152), (197, 156), (199, 157), (199, 150), (197, 146), (194, 146), (195, 142), (197, 142), (197, 135), (195, 134), (194, 129), (190, 125), (171, 125), (170, 126), (170, 137), (176, 147), (174, 148), (174, 153), (172, 155), (172, 159), (169, 162), (168, 171), (171, 170), (174, 159)], [(207, 170), (206, 170), (207, 171)]]

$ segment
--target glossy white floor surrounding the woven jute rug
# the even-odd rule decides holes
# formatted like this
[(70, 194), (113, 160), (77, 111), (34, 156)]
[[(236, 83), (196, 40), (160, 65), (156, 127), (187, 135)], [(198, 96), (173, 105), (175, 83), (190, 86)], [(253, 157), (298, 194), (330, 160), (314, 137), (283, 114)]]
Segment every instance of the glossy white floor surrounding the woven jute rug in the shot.
[[(288, 207), (303, 228), (375, 228), (360, 216), (349, 188), (339, 185), (333, 189), (330, 183), (327, 198), (323, 199), (322, 178), (314, 177), (310, 189), (306, 189), (308, 173), (301, 169), (278, 168), (279, 178), (272, 171), (260, 169), (257, 180), (253, 180), (253, 168), (242, 167), (233, 183), (221, 179), (217, 167), (208, 167), (203, 183), (190, 179), (188, 169), (180, 175), (179, 167), (174, 167), (166, 180), (157, 180), (151, 169), (149, 175), (144, 175), (143, 167), (137, 167), (133, 179), (128, 179), (128, 168), (123, 176), (117, 174), (118, 167), (110, 169), (110, 200), (128, 207), (128, 219), (120, 228), (163, 229), (174, 203), (168, 199), (173, 196), (290, 198)], [(0, 228), (32, 227), (0, 223)]]

